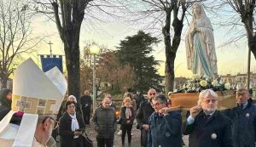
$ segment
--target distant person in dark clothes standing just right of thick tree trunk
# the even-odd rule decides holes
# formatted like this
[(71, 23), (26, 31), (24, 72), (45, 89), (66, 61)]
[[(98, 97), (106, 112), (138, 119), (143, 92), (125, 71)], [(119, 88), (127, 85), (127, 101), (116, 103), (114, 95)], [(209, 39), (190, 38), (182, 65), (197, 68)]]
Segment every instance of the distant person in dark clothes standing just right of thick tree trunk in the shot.
[(84, 91), (84, 95), (80, 99), (83, 116), (84, 116), (84, 123), (89, 125), (90, 124), (90, 106), (92, 105), (92, 100), (90, 97), (90, 93), (88, 90)]

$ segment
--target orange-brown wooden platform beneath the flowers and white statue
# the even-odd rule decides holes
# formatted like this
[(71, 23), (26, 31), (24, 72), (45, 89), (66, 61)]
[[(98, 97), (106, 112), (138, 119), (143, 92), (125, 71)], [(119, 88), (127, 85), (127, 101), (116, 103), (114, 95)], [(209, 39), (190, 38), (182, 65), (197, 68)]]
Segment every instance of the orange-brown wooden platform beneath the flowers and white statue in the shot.
[[(236, 106), (235, 90), (228, 90), (218, 93), (218, 110), (233, 108)], [(172, 93), (172, 107), (181, 106), (183, 110), (189, 110), (197, 105), (199, 93)]]

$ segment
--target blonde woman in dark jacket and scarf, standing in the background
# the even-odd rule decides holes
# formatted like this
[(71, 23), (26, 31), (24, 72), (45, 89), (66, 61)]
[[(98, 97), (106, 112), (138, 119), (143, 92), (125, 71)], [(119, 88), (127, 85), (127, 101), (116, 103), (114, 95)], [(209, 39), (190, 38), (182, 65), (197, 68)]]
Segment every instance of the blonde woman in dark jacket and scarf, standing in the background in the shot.
[(128, 146), (131, 147), (131, 128), (135, 118), (135, 110), (131, 105), (131, 99), (126, 97), (121, 108), (120, 122), (122, 130), (122, 147), (125, 146), (125, 134), (128, 135)]

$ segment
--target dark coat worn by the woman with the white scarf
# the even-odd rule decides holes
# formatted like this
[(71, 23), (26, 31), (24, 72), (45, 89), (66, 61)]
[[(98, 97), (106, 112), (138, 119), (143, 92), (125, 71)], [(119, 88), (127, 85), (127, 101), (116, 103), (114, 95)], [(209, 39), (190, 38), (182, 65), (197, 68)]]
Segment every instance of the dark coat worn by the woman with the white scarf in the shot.
[[(79, 113), (77, 113), (76, 117), (79, 122), (79, 129), (81, 129), (82, 132), (84, 133), (85, 125), (84, 125), (82, 116)], [(71, 116), (68, 115), (66, 111), (63, 113), (63, 115), (60, 118), (59, 134), (61, 136), (61, 147), (77, 147), (77, 146), (73, 146), (74, 132), (71, 130), (71, 124), (72, 124), (72, 118)], [(81, 139), (81, 136), (79, 136), (79, 139)]]

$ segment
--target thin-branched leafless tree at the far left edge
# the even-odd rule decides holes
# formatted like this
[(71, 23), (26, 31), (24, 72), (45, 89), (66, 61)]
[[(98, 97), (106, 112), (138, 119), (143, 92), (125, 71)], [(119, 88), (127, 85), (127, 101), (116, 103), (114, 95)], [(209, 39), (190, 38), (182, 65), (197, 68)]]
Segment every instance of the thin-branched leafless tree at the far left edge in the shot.
[(7, 87), (9, 76), (15, 71), (22, 54), (31, 53), (38, 38), (32, 36), (31, 15), (15, 0), (0, 1), (0, 81)]

